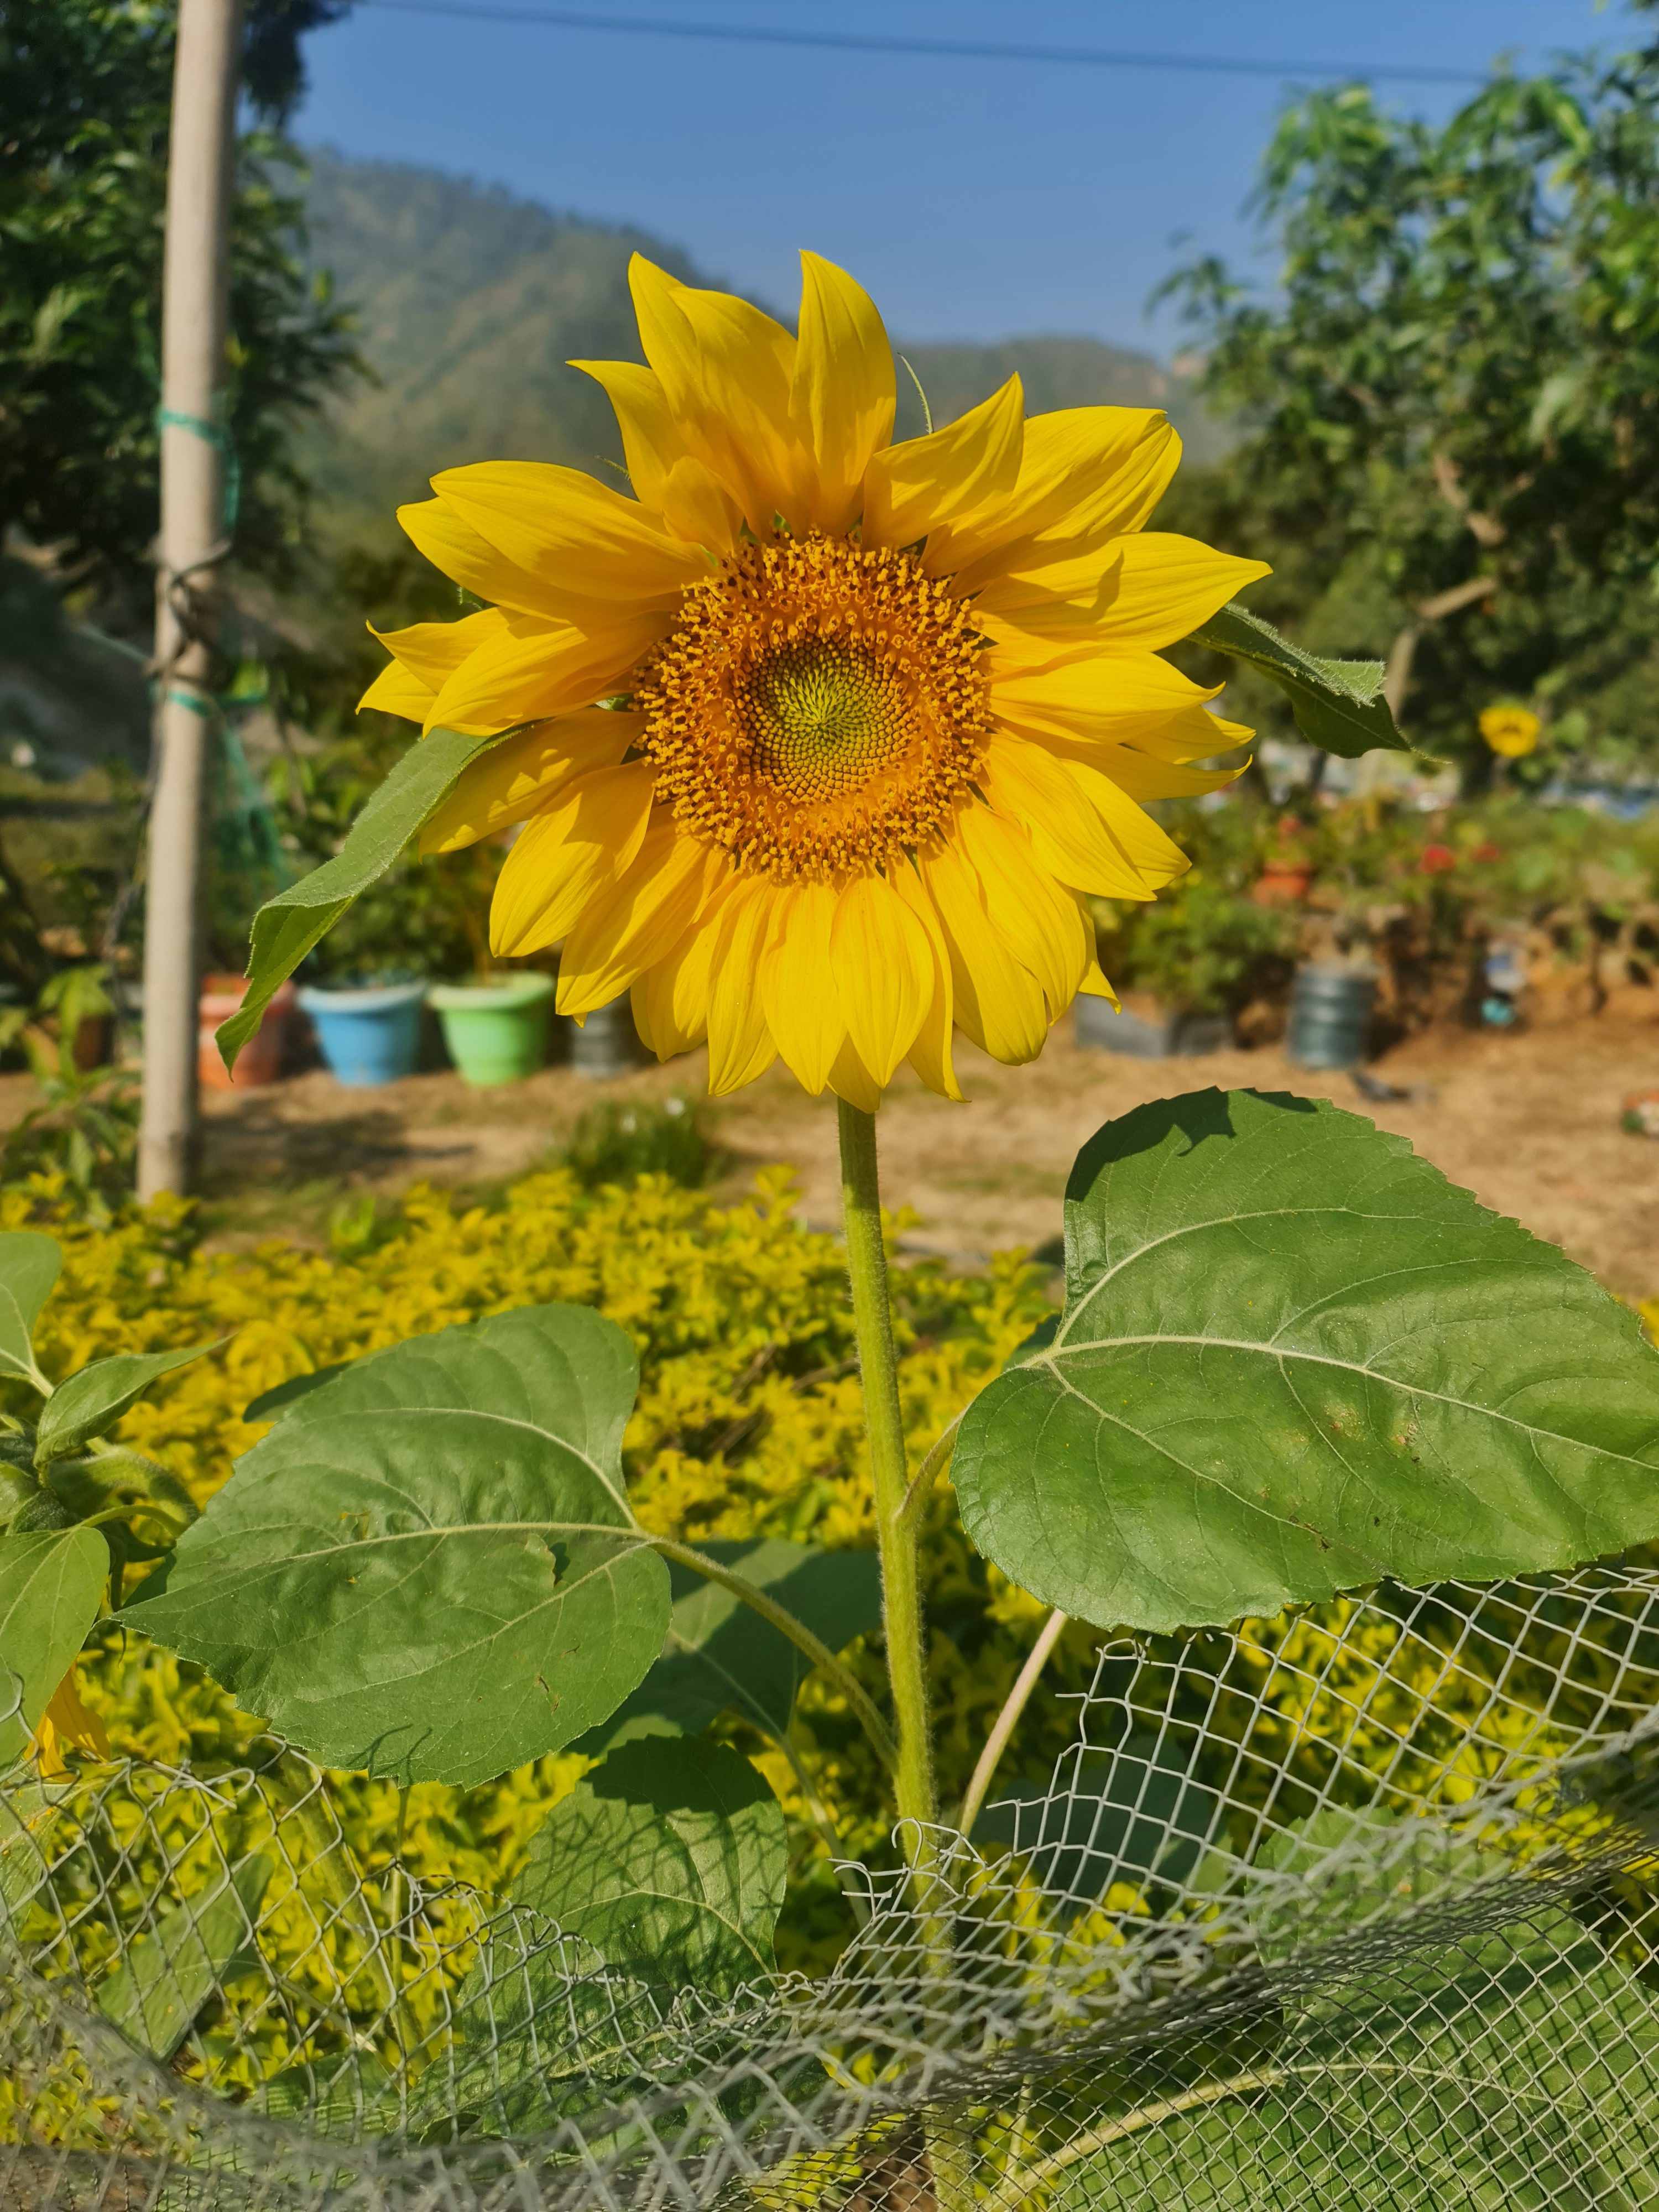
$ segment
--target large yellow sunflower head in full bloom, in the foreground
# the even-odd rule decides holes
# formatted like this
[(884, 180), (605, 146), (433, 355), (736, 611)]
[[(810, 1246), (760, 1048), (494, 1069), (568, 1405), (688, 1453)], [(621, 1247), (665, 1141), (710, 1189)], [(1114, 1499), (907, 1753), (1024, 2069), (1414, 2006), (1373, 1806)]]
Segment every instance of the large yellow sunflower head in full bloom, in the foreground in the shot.
[(1206, 792), (1248, 737), (1159, 653), (1263, 575), (1144, 524), (1179, 438), (1157, 409), (1024, 416), (1020, 378), (891, 442), (869, 296), (803, 254), (799, 336), (630, 268), (648, 367), (608, 394), (626, 495), (480, 462), (400, 509), (489, 602), (383, 637), (363, 697), (427, 730), (515, 730), (427, 825), (511, 823), (491, 945), (562, 945), (562, 1013), (622, 991), (710, 1091), (776, 1057), (860, 1108), (900, 1062), (960, 1097), (951, 1033), (1024, 1062), (1110, 995), (1086, 898), (1186, 867), (1141, 801)]

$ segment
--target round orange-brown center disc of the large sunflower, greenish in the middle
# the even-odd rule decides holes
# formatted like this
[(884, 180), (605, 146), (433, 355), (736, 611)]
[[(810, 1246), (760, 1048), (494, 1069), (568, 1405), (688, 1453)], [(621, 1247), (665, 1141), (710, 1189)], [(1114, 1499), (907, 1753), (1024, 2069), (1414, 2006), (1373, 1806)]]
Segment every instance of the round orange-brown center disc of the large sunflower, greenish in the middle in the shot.
[(741, 867), (830, 880), (925, 843), (989, 734), (982, 641), (907, 553), (743, 546), (644, 661), (657, 799)]

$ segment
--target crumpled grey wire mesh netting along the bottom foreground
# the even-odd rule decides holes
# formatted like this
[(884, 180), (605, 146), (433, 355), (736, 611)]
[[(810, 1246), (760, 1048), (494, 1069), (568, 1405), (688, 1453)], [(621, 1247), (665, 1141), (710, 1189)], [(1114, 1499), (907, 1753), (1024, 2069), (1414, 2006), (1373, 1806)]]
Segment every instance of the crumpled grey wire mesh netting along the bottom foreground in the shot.
[(279, 1745), (18, 1772), (0, 2205), (1659, 2205), (1657, 1708), (1646, 1571), (1113, 1644), (734, 1997), (365, 1871)]

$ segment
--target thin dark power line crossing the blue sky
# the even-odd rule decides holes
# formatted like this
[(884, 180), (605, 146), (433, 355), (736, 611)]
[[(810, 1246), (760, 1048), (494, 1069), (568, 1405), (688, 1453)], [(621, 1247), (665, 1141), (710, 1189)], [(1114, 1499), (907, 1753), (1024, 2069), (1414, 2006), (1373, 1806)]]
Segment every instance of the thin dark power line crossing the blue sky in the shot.
[(617, 31), (635, 38), (721, 40), (737, 46), (816, 46), (834, 53), (907, 53), (951, 62), (1060, 62), (1071, 69), (1179, 69), (1232, 77), (1336, 77), (1343, 84), (1389, 77), (1400, 84), (1484, 84), (1482, 71), (1431, 69), (1411, 62), (1267, 62), (1223, 53), (1119, 53), (1108, 46), (1009, 46), (971, 38), (885, 38), (860, 31), (783, 31), (737, 22), (675, 22), (664, 15), (597, 15), (568, 7), (507, 7), (484, 0), (358, 0), (396, 15), (456, 15), (462, 22), (526, 22), (553, 31)]

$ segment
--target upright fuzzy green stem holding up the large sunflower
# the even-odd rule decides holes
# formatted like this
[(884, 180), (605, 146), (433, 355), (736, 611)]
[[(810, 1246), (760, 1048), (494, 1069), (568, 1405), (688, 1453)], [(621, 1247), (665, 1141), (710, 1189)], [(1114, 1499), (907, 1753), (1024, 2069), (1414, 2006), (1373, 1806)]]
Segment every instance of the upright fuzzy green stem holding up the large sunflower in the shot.
[[(933, 1785), (933, 1725), (927, 1710), (927, 1628), (916, 1520), (907, 1511), (909, 1462), (898, 1407), (898, 1352), (887, 1294), (887, 1248), (880, 1234), (880, 1177), (876, 1172), (876, 1117), (860, 1106), (841, 1110), (841, 1210), (847, 1223), (852, 1325), (865, 1391), (865, 1433), (876, 1491), (880, 1601), (887, 1637), (887, 1683), (894, 1694), (894, 1798), (898, 1818), (914, 1827), (911, 1898), (920, 1933), (920, 1969), (931, 1982), (951, 1975), (951, 1922), (938, 1856), (938, 1790)], [(922, 2119), (933, 2199), (940, 2212), (971, 2212), (971, 2135), (953, 2115)]]

